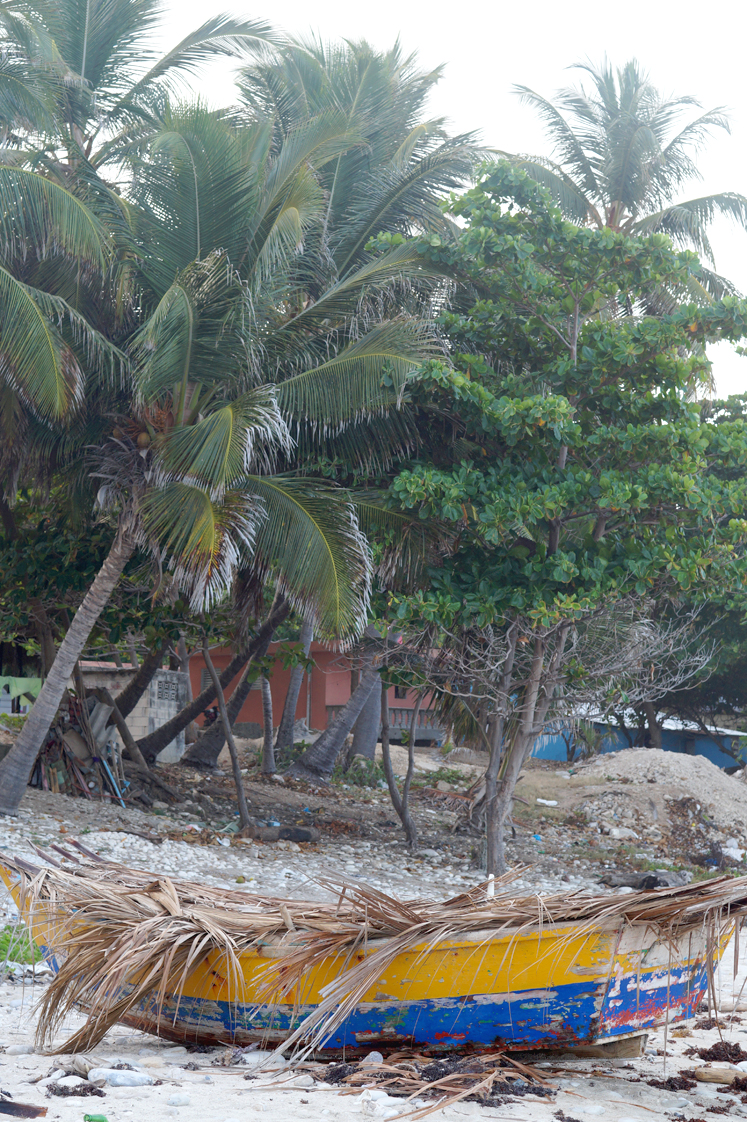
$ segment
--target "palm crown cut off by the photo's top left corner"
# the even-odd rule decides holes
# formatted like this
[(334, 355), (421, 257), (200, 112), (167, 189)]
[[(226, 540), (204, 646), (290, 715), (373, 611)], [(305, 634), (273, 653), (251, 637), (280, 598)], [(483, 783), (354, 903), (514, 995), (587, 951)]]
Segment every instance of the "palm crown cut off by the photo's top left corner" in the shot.
[(18, 0), (0, 7), (0, 120), (61, 174), (103, 168), (147, 129), (165, 93), (201, 65), (278, 40), (264, 20), (215, 15), (165, 55), (154, 49), (158, 0)]

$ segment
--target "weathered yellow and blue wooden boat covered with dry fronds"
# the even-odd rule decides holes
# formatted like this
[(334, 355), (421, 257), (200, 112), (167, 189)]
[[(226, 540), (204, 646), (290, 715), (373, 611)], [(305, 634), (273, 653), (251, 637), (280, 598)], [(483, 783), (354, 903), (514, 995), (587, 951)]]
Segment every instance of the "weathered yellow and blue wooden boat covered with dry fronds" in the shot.
[[(340, 902), (335, 911), (219, 890), (201, 890), (197, 900), (195, 885), (122, 866), (67, 872), (2, 858), (0, 875), (46, 960), (61, 972), (65, 1008), (74, 1004), (90, 1013), (90, 1026), (96, 1022), (98, 1034), (79, 1033), (73, 1047), (90, 1047), (116, 1022), (179, 1042), (306, 1042), (317, 1054), (348, 1057), (403, 1047), (610, 1043), (692, 1017), (712, 994), (719, 956), (747, 912), (747, 877), (622, 898), (522, 898), (499, 884), (492, 899), (483, 888), (441, 905), (348, 885), (343, 895), (354, 916), (363, 900), (388, 916), (388, 929), (367, 917), (360, 938)], [(122, 916), (123, 937), (112, 900), (135, 909)], [(556, 918), (563, 913), (565, 920)], [(227, 937), (233, 949), (214, 932), (204, 937), (211, 921), (241, 930), (245, 914), (249, 945), (241, 947), (236, 934)], [(200, 937), (190, 935), (190, 925)], [(179, 940), (185, 930), (190, 949), (177, 964), (166, 950), (168, 932)], [(162, 940), (160, 950), (154, 946), (150, 958), (123, 965), (127, 948), (149, 932)], [(129, 941), (118, 944), (121, 938)], [(56, 984), (50, 1006), (59, 999)], [(53, 1021), (50, 1014), (47, 1028)]]

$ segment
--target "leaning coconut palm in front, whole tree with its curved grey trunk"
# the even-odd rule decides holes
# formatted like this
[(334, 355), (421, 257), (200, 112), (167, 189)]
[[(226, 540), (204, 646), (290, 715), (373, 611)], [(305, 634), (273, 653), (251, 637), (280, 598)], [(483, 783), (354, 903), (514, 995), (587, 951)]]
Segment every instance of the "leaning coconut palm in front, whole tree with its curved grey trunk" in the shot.
[(233, 129), (201, 105), (166, 105), (158, 130), (128, 154), (144, 322), (127, 347), (130, 407), (92, 466), (117, 533), (0, 765), (2, 810), (17, 807), (74, 664), (138, 546), (195, 609), (225, 595), (242, 567), (271, 577), (322, 634), (353, 633), (365, 620), (370, 565), (353, 508), (329, 481), (294, 471), (290, 426), (308, 444), (314, 427), (329, 440), (396, 406), (430, 339), (416, 318), (386, 313), (393, 287), (426, 272), (396, 247), (326, 287), (319, 272), (313, 301), (303, 248), (307, 232), (320, 241), (324, 221), (315, 167), (350, 135), (323, 117), (277, 154), (268, 135), (265, 125)]

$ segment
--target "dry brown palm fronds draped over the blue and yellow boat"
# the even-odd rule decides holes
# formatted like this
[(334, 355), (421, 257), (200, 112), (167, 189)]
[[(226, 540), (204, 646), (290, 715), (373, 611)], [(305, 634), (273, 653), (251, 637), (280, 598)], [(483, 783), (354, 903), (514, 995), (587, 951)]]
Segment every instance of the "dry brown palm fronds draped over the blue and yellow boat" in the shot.
[[(728, 925), (747, 914), (747, 877), (620, 898), (520, 895), (510, 891), (508, 875), (494, 882), (495, 895), (479, 885), (437, 902), (397, 900), (367, 885), (328, 880), (323, 884), (335, 899), (320, 903), (170, 881), (102, 863), (74, 845), (79, 856), (67, 854), (65, 868), (2, 857), (21, 875), (25, 917), (55, 929), (59, 972), (42, 1002), (39, 1043), (50, 1042), (73, 1008), (87, 1012), (85, 1026), (58, 1049), (67, 1052), (94, 1047), (142, 1002), (162, 1009), (211, 951), (222, 956), (222, 973), (241, 1002), (240, 955), (273, 946), (264, 976), (268, 1004), (294, 1004), (308, 972), (336, 959), (336, 977), (322, 991), (322, 1002), (283, 1046), (313, 1048), (345, 1020), (388, 965), (415, 946), (425, 956), (443, 940), (476, 932), (513, 938), (553, 923), (591, 932), (628, 920), (663, 939), (706, 927), (716, 948)], [(366, 953), (358, 960), (361, 948)]]

